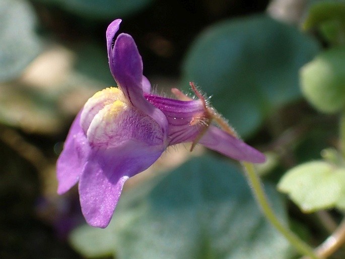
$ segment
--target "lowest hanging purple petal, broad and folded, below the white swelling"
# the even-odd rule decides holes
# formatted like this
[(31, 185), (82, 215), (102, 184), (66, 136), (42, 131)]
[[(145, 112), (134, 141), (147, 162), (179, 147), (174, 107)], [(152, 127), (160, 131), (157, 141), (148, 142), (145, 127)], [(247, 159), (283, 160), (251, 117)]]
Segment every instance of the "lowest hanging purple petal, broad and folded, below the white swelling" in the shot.
[(91, 226), (105, 228), (113, 215), (124, 182), (151, 166), (162, 147), (128, 141), (121, 147), (95, 149), (79, 181), (83, 215)]

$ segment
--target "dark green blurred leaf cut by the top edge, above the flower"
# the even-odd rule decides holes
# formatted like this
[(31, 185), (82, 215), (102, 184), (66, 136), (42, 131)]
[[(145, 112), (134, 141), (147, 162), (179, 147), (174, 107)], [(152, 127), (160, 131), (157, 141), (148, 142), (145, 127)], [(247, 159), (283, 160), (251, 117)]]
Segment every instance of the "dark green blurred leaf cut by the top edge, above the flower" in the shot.
[(79, 16), (109, 20), (134, 14), (154, 0), (35, 0), (57, 5)]

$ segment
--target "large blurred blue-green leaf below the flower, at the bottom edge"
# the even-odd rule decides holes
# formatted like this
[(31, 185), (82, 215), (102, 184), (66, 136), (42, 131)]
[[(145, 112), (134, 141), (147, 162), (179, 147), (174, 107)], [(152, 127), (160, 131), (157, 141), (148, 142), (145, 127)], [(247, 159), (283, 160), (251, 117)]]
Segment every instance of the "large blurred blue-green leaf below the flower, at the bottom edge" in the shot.
[[(237, 167), (200, 157), (155, 181), (123, 193), (106, 229), (76, 229), (74, 247), (126, 259), (290, 258), (288, 242), (264, 219)], [(279, 195), (270, 185), (267, 193), (285, 221)]]

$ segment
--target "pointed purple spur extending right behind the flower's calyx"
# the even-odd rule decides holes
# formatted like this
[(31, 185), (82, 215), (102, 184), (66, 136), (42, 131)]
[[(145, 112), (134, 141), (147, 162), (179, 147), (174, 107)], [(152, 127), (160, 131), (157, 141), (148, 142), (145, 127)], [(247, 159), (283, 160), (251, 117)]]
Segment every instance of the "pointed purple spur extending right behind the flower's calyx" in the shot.
[(210, 126), (199, 143), (236, 160), (252, 163), (262, 163), (266, 160), (261, 152), (216, 126)]

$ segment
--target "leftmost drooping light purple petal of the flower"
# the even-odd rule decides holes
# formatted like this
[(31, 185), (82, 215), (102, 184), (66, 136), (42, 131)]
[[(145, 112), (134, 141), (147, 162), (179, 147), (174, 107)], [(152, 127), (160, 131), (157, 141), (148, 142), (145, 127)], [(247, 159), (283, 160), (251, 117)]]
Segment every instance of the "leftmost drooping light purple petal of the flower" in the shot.
[(56, 162), (57, 193), (59, 194), (66, 192), (78, 182), (90, 153), (89, 143), (80, 126), (81, 112), (72, 123), (63, 150)]

